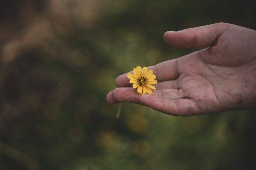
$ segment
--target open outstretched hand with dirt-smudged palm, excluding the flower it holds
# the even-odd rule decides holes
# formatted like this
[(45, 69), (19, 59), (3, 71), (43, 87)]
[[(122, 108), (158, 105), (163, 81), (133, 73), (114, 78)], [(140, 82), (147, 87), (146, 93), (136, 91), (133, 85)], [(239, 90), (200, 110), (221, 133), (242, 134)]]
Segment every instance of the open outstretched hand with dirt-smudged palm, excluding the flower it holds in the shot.
[(107, 102), (131, 102), (173, 116), (193, 116), (256, 106), (256, 31), (227, 23), (166, 32), (164, 40), (178, 48), (206, 47), (153, 69), (159, 83), (153, 94), (129, 87), (127, 73)]

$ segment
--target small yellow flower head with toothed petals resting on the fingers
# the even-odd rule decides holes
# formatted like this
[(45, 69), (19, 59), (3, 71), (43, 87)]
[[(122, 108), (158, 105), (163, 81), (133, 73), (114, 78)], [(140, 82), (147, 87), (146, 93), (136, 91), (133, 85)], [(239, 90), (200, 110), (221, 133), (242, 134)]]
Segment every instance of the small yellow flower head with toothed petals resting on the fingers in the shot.
[(137, 68), (133, 69), (133, 74), (128, 73), (127, 77), (130, 79), (130, 83), (132, 83), (132, 87), (134, 89), (137, 89), (137, 92), (144, 95), (146, 92), (148, 94), (152, 94), (151, 89), (156, 89), (152, 84), (156, 84), (157, 80), (156, 76), (153, 74), (153, 70), (149, 70), (147, 67), (143, 67), (141, 69), (140, 66), (137, 66)]

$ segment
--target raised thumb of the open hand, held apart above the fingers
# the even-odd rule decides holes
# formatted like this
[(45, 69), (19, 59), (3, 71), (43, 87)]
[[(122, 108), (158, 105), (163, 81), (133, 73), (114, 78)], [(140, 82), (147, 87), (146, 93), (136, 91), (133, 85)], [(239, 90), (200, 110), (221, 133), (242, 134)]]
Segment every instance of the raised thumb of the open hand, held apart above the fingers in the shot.
[(227, 23), (216, 23), (178, 32), (167, 31), (164, 33), (164, 40), (178, 48), (208, 47), (215, 45), (220, 35), (230, 26)]

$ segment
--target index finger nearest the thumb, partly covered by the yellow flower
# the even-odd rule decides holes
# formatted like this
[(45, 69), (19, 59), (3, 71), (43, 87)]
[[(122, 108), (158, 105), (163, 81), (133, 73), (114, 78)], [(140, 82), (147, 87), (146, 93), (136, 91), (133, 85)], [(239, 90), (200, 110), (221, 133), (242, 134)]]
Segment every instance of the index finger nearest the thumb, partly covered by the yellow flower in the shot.
[[(156, 80), (158, 82), (166, 80), (175, 80), (179, 77), (177, 69), (177, 59), (172, 59), (168, 61), (161, 62), (154, 66), (149, 66), (148, 70), (153, 70), (153, 74), (156, 75)], [(132, 73), (130, 71), (129, 73)], [(128, 73), (122, 74), (116, 78), (117, 87), (127, 87), (131, 85), (129, 78), (127, 77)]]

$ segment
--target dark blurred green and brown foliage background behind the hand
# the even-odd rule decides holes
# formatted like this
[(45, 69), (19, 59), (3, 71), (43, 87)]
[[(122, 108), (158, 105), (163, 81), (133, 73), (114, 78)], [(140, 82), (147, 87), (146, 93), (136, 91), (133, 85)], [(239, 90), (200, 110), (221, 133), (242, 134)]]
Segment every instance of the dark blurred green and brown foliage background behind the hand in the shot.
[[(255, 165), (255, 110), (173, 117), (106, 102), (115, 77), (197, 49), (165, 31), (227, 22), (234, 0), (0, 0), (0, 169), (187, 170)], [(253, 169), (253, 168), (252, 168)]]

